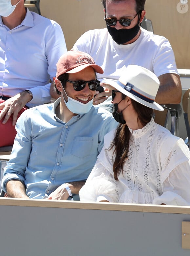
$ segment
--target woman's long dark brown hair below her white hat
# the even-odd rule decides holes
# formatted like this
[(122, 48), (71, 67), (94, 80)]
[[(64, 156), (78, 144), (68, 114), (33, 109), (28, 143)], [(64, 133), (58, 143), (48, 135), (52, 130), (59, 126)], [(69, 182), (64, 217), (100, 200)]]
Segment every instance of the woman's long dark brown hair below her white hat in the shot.
[[(126, 96), (122, 94), (122, 98), (124, 99)], [(137, 101), (131, 99), (131, 104), (138, 115), (137, 122), (143, 124), (145, 126), (148, 122), (150, 122), (152, 118), (153, 109), (148, 108)], [(123, 166), (125, 161), (128, 158), (129, 151), (129, 141), (130, 141), (131, 133), (126, 124), (119, 124), (116, 129), (115, 138), (113, 139), (108, 150), (112, 149), (114, 146), (113, 156), (115, 158), (113, 163), (113, 173), (114, 179), (118, 181), (118, 175), (123, 173)]]

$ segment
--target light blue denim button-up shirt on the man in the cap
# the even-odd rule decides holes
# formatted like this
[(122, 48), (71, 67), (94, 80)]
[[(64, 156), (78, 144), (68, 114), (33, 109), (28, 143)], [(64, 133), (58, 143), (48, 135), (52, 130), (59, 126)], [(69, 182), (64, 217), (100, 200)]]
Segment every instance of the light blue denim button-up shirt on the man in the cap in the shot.
[(104, 136), (118, 123), (100, 107), (92, 106), (64, 123), (53, 104), (26, 110), (16, 123), (17, 135), (2, 180), (25, 183), (29, 198), (46, 198), (66, 182), (86, 180), (104, 145)]

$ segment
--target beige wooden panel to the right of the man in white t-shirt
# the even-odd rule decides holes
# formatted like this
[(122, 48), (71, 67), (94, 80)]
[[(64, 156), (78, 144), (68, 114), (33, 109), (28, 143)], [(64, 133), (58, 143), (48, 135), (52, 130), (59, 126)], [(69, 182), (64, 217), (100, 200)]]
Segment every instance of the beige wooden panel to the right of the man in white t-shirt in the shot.
[(165, 36), (174, 50), (180, 69), (190, 69), (190, 2), (189, 10), (177, 11), (180, 0), (146, 0), (146, 18), (152, 21), (154, 33)]

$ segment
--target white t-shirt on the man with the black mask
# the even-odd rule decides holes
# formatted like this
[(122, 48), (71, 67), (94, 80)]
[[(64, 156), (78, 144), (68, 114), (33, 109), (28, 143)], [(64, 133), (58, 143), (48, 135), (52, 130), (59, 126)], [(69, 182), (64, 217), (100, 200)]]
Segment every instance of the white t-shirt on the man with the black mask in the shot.
[(90, 54), (95, 63), (104, 70), (98, 79), (115, 79), (129, 65), (135, 64), (149, 69), (155, 75), (178, 74), (175, 57), (169, 41), (141, 28), (139, 38), (127, 45), (113, 41), (107, 28), (85, 32), (74, 44), (74, 50)]

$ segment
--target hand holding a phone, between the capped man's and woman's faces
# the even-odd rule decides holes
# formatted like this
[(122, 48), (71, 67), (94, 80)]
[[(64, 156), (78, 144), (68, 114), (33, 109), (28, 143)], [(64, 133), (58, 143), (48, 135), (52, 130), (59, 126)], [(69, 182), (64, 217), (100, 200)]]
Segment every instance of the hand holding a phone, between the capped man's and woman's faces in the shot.
[(98, 105), (104, 102), (109, 96), (111, 96), (111, 91), (115, 88), (112, 87), (110, 84), (107, 83), (100, 83), (102, 87), (104, 87), (104, 92), (100, 93), (96, 91), (96, 96), (94, 97), (93, 104)]

